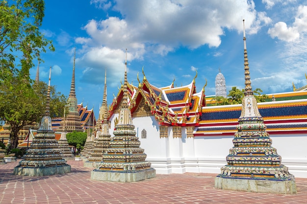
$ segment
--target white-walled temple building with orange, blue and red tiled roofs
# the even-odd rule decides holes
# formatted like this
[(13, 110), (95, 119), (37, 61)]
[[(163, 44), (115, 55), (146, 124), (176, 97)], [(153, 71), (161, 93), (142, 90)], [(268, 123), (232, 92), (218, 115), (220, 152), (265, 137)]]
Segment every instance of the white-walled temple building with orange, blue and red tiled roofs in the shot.
[[(195, 78), (190, 84), (156, 87), (145, 75), (138, 86), (127, 82), (128, 108), (140, 147), (158, 174), (205, 172), (221, 173), (225, 156), (237, 132), (242, 105), (213, 106), (214, 96), (198, 91)], [(109, 108), (110, 135), (120, 113), (125, 89), (122, 86)], [(282, 155), (282, 163), (295, 177), (307, 178), (307, 91), (267, 94), (258, 103), (266, 132)], [(112, 137), (111, 137), (112, 138)]]

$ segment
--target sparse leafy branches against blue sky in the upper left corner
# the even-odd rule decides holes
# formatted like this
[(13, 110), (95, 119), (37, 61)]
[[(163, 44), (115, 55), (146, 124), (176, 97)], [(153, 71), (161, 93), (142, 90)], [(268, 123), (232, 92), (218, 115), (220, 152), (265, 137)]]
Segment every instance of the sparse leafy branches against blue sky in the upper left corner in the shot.
[[(44, 0), (2, 0), (0, 2), (0, 77), (23, 70), (28, 77), (32, 60), (46, 52), (51, 41), (46, 40), (39, 27), (45, 11)], [(28, 78), (27, 78), (28, 79)]]

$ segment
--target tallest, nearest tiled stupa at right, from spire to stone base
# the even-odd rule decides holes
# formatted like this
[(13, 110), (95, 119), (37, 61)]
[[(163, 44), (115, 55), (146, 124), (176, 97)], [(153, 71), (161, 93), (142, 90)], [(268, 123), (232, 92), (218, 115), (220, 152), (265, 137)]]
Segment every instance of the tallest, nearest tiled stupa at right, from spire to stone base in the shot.
[(227, 165), (215, 179), (215, 187), (264, 193), (296, 193), (294, 176), (281, 164), (281, 156), (271, 147), (272, 139), (258, 111), (251, 87), (243, 20), (245, 92), (238, 119), (234, 147), (227, 156)]

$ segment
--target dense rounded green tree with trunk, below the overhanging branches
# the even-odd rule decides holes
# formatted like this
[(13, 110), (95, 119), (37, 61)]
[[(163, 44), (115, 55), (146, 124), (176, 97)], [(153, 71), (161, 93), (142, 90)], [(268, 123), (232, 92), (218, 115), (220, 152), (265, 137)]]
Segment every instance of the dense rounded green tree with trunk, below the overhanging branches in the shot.
[(4, 80), (0, 86), (0, 120), (10, 125), (11, 148), (18, 145), (18, 132), (41, 118), (44, 103), (22, 76)]

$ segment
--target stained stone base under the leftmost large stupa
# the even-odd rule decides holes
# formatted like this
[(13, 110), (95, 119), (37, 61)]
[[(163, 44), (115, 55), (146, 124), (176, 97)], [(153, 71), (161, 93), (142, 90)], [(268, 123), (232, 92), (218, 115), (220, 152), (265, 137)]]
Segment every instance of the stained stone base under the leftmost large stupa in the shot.
[(52, 167), (20, 167), (16, 166), (14, 168), (15, 175), (21, 176), (47, 176), (54, 174), (65, 174), (70, 173), (71, 166), (66, 164), (62, 166), (52, 166)]

